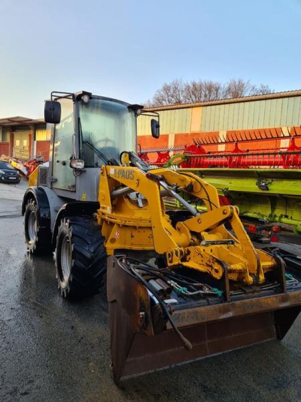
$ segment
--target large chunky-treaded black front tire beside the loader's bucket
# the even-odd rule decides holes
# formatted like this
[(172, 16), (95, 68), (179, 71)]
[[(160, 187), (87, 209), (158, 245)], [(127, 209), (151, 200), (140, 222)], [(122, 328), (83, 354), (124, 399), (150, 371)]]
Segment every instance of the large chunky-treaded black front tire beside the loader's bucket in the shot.
[(62, 296), (81, 298), (98, 293), (106, 260), (104, 237), (95, 219), (62, 219), (56, 243), (57, 279)]

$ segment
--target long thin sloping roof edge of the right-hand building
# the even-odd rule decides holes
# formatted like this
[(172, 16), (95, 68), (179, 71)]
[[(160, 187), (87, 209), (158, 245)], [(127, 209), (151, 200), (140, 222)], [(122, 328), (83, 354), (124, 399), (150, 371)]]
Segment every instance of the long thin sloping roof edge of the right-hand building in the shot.
[(167, 106), (154, 106), (154, 107), (150, 107), (150, 108), (145, 108), (145, 110), (161, 111), (161, 110), (171, 110), (171, 109), (188, 109), (188, 108), (197, 108), (200, 106), (234, 104), (234, 103), (239, 103), (239, 102), (252, 102), (255, 100), (264, 100), (264, 99), (278, 99), (278, 98), (290, 97), (290, 96), (301, 96), (301, 89), (297, 89), (297, 90), (293, 90), (293, 91), (285, 91), (285, 92), (267, 93), (266, 95), (252, 95), (252, 96), (243, 96), (243, 97), (236, 97), (236, 98), (230, 98), (230, 99), (218, 99), (218, 100), (211, 100), (210, 102), (174, 104), (174, 105), (167, 105)]

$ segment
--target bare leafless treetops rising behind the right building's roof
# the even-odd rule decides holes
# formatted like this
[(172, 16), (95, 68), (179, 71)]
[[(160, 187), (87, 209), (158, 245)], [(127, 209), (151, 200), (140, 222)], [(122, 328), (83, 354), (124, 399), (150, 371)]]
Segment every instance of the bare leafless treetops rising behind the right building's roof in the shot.
[(174, 79), (170, 83), (165, 82), (146, 102), (146, 105), (167, 106), (209, 102), (210, 100), (266, 94), (272, 91), (268, 85), (256, 86), (241, 78), (231, 79), (226, 84), (212, 80), (184, 82), (182, 79)]

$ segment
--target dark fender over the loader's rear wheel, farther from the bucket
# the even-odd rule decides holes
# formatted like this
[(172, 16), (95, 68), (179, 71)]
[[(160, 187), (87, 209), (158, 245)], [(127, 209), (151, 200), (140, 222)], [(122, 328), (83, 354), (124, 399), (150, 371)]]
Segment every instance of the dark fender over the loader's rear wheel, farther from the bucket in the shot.
[(26, 204), (29, 199), (35, 199), (37, 203), (40, 228), (47, 228), (50, 230), (50, 207), (48, 197), (43, 187), (28, 187), (22, 201), (22, 215), (25, 214)]

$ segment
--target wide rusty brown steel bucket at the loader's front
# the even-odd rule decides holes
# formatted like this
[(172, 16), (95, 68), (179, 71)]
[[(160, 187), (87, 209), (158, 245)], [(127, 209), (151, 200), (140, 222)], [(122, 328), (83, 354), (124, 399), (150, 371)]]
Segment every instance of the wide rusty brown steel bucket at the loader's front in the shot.
[[(192, 349), (183, 347), (160, 306), (123, 269), (120, 258), (108, 259), (107, 297), (113, 379), (120, 380), (171, 365), (282, 339), (301, 311), (301, 285), (278, 294), (175, 309), (172, 317)], [(301, 275), (298, 277), (301, 280)]]

